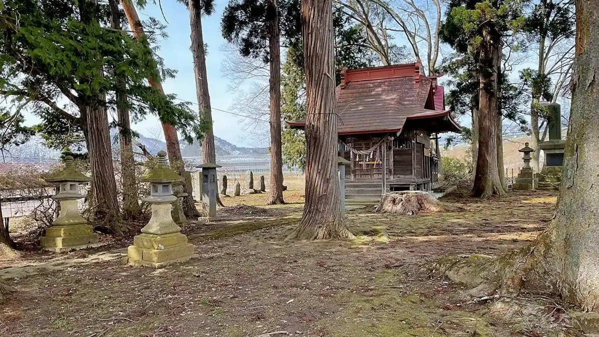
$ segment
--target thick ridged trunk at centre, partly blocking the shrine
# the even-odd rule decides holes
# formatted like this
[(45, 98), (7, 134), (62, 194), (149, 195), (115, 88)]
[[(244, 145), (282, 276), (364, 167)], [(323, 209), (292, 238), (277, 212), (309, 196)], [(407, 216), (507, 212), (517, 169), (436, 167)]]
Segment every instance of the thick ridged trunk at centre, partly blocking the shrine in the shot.
[(335, 53), (331, 0), (301, 1), (306, 79), (305, 206), (290, 239), (348, 239), (337, 174)]

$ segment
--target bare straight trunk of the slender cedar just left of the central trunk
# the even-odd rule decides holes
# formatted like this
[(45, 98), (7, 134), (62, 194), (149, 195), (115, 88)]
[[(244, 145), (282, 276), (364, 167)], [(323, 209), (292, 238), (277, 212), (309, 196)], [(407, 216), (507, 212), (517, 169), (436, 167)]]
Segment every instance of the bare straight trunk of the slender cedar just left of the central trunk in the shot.
[(283, 158), (281, 151), (281, 55), (279, 8), (273, 1), (274, 16), (270, 23), (270, 183), (266, 204), (283, 204)]

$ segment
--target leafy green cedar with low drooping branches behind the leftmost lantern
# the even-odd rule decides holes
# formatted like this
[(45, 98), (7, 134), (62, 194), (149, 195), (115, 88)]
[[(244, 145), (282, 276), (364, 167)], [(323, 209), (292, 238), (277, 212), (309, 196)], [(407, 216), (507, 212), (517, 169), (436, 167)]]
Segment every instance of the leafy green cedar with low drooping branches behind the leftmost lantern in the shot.
[[(187, 140), (201, 134), (201, 125), (187, 104), (175, 104), (172, 95), (147, 87), (146, 79), (158, 76), (147, 41), (105, 29), (108, 13), (107, 4), (90, 1), (5, 1), (0, 10), (0, 94), (35, 107), (32, 111), (43, 120), (36, 130), (51, 145), (86, 142), (92, 221), (118, 234), (123, 223), (107, 119), (107, 110), (116, 110), (116, 103), (107, 93), (131, 98), (126, 105), (136, 119), (152, 113), (178, 125)], [(56, 103), (64, 98), (78, 109)]]

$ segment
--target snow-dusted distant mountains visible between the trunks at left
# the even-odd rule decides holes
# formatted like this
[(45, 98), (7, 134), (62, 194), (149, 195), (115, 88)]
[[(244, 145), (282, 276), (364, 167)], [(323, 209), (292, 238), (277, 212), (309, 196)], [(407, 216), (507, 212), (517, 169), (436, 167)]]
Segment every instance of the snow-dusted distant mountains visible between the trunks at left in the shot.
[[(113, 147), (117, 148), (118, 144), (114, 142), (116, 139), (116, 131), (112, 130), (110, 136), (113, 140)], [(146, 146), (147, 151), (153, 155), (158, 154), (159, 151), (167, 150), (167, 143), (162, 142), (162, 140), (140, 136), (137, 141)], [(220, 139), (219, 137), (214, 137), (214, 146), (216, 148), (217, 156), (268, 154), (267, 148), (241, 148), (224, 139)], [(193, 142), (193, 144), (181, 144), (181, 155), (183, 155), (183, 157), (201, 157), (202, 152), (199, 142), (196, 141)], [(47, 148), (40, 136), (31, 137), (31, 139), (23, 145), (11, 146), (5, 153), (5, 161), (7, 162), (35, 163), (43, 160), (56, 160), (58, 158), (60, 158), (60, 151)]]

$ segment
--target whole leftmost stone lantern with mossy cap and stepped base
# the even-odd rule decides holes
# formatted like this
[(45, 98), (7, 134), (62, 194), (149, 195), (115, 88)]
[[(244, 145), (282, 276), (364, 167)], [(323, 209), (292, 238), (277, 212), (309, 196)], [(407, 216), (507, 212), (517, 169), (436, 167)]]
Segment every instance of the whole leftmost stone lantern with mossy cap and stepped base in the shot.
[(40, 238), (40, 245), (45, 251), (68, 252), (101, 245), (98, 243), (98, 234), (93, 233), (92, 225), (77, 209), (77, 200), (85, 197), (79, 194), (79, 183), (91, 179), (78, 171), (73, 162), (73, 157), (66, 156), (63, 160), (65, 167), (44, 179), (59, 184), (59, 192), (52, 198), (60, 203), (58, 217)]

